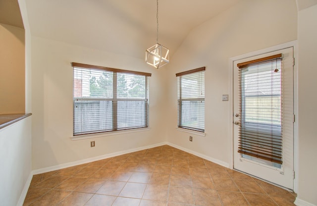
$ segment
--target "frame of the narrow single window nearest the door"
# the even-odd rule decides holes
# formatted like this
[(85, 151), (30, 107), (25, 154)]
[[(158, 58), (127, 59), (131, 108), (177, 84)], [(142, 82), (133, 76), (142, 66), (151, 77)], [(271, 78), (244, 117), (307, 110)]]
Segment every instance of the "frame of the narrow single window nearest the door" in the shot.
[[(188, 70), (188, 71), (184, 71), (184, 72), (180, 72), (180, 73), (176, 73), (176, 77), (177, 77), (177, 129), (182, 131), (182, 130), (187, 130), (189, 133), (196, 133), (196, 134), (204, 134), (205, 133), (205, 70), (206, 67), (200, 67), (197, 69), (192, 69), (192, 70)], [(202, 81), (203, 83), (203, 87), (204, 87), (204, 97), (194, 97), (194, 98), (182, 98), (182, 87), (181, 87), (181, 78), (184, 75), (189, 75), (189, 74), (193, 74), (196, 75), (196, 73), (198, 72), (204, 72), (204, 80)], [(190, 102), (190, 104), (192, 102), (196, 102), (197, 101), (201, 101), (204, 102), (204, 129), (201, 128), (197, 128), (197, 127), (191, 127), (191, 126), (185, 126), (182, 125), (182, 103), (183, 102)]]

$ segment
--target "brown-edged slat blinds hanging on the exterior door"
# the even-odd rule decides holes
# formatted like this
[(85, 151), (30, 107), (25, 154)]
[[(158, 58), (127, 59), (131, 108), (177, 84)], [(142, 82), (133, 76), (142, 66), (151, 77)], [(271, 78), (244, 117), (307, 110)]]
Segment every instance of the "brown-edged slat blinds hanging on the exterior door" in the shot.
[(281, 54), (240, 64), (238, 152), (281, 164), (282, 68), (279, 57)]

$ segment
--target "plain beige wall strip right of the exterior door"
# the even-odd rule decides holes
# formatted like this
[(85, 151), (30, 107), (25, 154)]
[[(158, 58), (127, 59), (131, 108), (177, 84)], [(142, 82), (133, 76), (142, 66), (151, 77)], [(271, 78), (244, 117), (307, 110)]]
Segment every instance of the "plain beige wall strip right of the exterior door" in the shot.
[[(317, 4), (298, 13), (298, 197), (317, 206)], [(298, 200), (296, 200), (297, 202)]]

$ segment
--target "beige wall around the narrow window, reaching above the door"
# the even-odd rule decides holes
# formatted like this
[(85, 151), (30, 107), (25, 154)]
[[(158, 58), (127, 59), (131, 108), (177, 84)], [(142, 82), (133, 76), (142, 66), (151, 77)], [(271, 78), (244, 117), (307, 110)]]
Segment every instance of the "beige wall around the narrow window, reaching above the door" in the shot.
[[(243, 0), (193, 29), (167, 65), (167, 98), (170, 116), (166, 122), (168, 142), (206, 155), (223, 165), (232, 165), (230, 109), (230, 57), (258, 51), (297, 39), (295, 0)], [(177, 81), (175, 74), (206, 66), (205, 132), (197, 136), (176, 130)], [(193, 136), (193, 142), (189, 141)]]

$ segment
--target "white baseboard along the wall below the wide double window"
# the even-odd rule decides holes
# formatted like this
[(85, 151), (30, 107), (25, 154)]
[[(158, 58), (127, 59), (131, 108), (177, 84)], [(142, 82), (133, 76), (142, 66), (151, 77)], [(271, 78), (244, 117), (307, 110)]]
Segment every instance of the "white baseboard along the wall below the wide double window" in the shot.
[(141, 151), (141, 150), (147, 150), (147, 149), (159, 147), (159, 146), (162, 146), (162, 145), (167, 145), (167, 143), (166, 142), (162, 142), (162, 143), (158, 143), (158, 144), (154, 144), (154, 145), (148, 145), (148, 146), (139, 147), (139, 148), (130, 149), (130, 150), (125, 150), (125, 151), (120, 151), (120, 152), (116, 152), (116, 153), (105, 154), (105, 155), (101, 155), (101, 156), (95, 156), (95, 157), (91, 157), (91, 158), (87, 158), (87, 159), (81, 159), (81, 160), (78, 160), (78, 161), (64, 163), (64, 164), (58, 164), (58, 165), (54, 165), (54, 166), (51, 166), (51, 167), (45, 167), (45, 168), (33, 170), (32, 173), (33, 174), (42, 174), (42, 173), (45, 173), (45, 172), (51, 172), (51, 171), (58, 170), (58, 169), (64, 169), (64, 168), (67, 168), (67, 167), (72, 167), (72, 166), (76, 166), (76, 165), (80, 165), (80, 164), (85, 164), (85, 163), (89, 163), (89, 162), (93, 162), (93, 161), (98, 161), (98, 160), (101, 160), (101, 159), (106, 159), (106, 158), (110, 158), (110, 157), (114, 157), (114, 156), (118, 156), (118, 155), (122, 155), (122, 154), (128, 154), (128, 153), (138, 152), (138, 151)]

